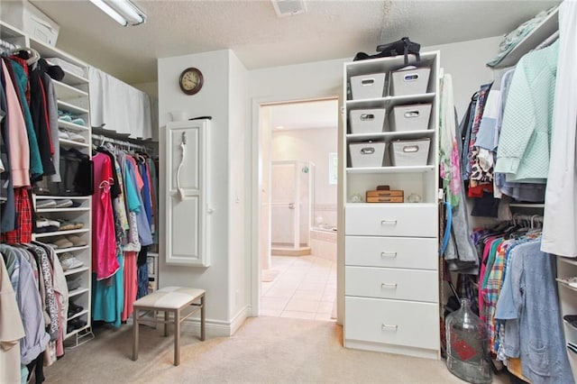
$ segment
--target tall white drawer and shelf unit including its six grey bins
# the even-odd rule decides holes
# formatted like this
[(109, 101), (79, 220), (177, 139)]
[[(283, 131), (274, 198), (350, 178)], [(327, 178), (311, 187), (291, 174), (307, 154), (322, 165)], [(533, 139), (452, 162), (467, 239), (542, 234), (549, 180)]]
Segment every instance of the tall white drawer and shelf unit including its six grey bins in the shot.
[[(408, 65), (417, 68), (401, 70), (403, 56), (344, 63), (343, 342), (438, 360), (439, 52)], [(406, 200), (359, 201), (374, 189), (402, 191)]]

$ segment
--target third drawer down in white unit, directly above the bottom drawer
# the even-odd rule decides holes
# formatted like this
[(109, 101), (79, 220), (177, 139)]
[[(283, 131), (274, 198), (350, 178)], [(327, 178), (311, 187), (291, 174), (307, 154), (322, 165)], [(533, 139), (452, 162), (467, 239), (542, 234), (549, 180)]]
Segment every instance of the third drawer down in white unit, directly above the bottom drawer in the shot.
[(439, 293), (435, 270), (395, 270), (374, 267), (344, 268), (346, 296), (398, 298), (435, 303)]

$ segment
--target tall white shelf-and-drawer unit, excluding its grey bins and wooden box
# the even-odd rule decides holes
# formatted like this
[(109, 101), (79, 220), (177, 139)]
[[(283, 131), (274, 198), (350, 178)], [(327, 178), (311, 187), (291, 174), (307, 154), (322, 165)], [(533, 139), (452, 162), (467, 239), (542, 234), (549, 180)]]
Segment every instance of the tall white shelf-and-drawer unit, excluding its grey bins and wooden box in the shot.
[[(344, 64), (344, 346), (440, 358), (438, 274), (438, 74), (439, 53), (421, 54), (418, 68), (430, 68), (426, 92), (389, 95), (391, 71), (404, 67), (402, 56)], [(346, 92), (357, 76), (385, 73), (382, 97), (353, 100)], [(354, 92), (353, 92), (354, 94)], [(397, 132), (390, 115), (397, 105), (430, 104), (428, 126)], [(352, 133), (350, 112), (384, 108), (382, 132)], [(428, 139), (425, 164), (395, 166), (391, 142)], [(382, 163), (353, 165), (350, 144), (384, 142)], [(359, 202), (367, 190), (387, 185), (404, 191), (404, 203)], [(417, 194), (421, 203), (407, 203)]]

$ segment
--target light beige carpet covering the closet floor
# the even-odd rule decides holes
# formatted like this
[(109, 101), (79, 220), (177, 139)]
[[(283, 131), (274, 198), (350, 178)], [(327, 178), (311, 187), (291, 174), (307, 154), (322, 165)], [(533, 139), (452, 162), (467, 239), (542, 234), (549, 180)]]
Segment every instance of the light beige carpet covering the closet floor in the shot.
[[(132, 328), (96, 332), (45, 368), (46, 383), (462, 383), (444, 361), (343, 348), (333, 322), (252, 317), (231, 337), (181, 336), (180, 365), (161, 327), (141, 327), (138, 361)], [(501, 379), (502, 378), (502, 379)], [(499, 376), (493, 382), (507, 382)]]

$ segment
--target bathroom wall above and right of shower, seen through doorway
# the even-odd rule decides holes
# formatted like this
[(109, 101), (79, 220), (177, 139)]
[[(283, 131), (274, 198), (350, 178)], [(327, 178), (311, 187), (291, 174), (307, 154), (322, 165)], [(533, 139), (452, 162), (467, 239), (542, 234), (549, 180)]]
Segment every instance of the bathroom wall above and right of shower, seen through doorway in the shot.
[(313, 220), (321, 215), (330, 226), (336, 226), (337, 186), (328, 183), (328, 154), (336, 151), (337, 127), (272, 133), (271, 160), (307, 160), (315, 164)]

